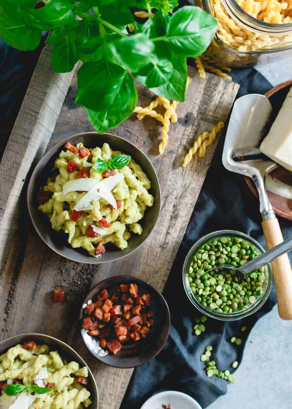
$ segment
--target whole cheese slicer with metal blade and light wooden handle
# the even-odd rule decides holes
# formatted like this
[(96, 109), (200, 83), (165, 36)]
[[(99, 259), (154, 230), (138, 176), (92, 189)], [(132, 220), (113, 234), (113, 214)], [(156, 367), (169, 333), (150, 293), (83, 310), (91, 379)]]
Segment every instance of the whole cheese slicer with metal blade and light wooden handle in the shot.
[[(226, 169), (249, 176), (256, 185), (268, 250), (283, 242), (279, 221), (265, 189), (266, 175), (278, 165), (265, 160), (263, 155), (258, 156), (258, 146), (265, 136), (271, 112), (270, 101), (263, 95), (249, 94), (238, 98), (231, 112), (222, 154), (222, 163)], [(242, 156), (249, 159), (239, 160)], [(272, 261), (272, 269), (279, 316), (292, 319), (292, 270), (288, 255), (283, 254)]]

